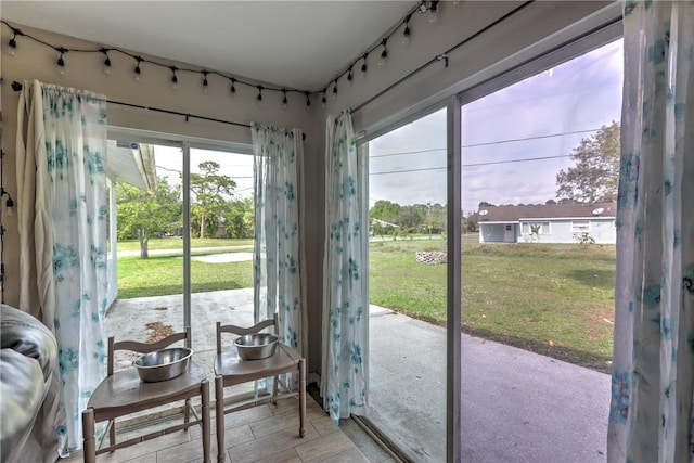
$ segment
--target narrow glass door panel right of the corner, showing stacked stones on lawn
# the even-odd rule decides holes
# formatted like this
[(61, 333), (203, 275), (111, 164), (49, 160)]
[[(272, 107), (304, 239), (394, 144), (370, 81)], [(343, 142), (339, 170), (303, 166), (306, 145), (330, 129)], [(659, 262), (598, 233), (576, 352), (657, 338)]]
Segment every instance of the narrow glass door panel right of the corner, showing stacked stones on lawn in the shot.
[(446, 461), (446, 110), (369, 142), (369, 408), (409, 459)]

